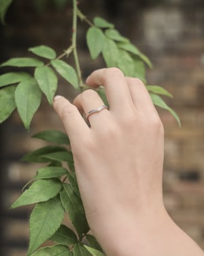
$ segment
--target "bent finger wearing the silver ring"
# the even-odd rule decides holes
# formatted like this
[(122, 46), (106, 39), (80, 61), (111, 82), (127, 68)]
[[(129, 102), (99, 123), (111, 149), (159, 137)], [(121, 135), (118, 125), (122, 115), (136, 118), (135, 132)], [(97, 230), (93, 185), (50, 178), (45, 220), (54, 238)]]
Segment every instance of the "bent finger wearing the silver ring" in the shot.
[[(104, 102), (99, 94), (92, 89), (88, 89), (83, 91), (82, 94), (79, 94), (73, 101), (73, 104), (75, 104), (79, 111), (85, 115), (92, 109), (98, 109), (99, 107), (104, 106)], [(101, 122), (107, 121), (107, 116), (109, 116), (109, 111), (107, 109), (102, 109), (99, 112), (88, 115), (87, 119), (90, 126), (101, 126)]]

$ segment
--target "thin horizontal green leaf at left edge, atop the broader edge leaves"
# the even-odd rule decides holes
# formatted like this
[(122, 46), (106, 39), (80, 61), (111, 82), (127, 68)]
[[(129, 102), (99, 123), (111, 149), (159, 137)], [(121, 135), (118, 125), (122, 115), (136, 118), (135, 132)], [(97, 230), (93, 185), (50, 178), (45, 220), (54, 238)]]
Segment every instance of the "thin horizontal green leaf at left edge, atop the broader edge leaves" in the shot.
[(44, 66), (44, 63), (39, 59), (21, 57), (21, 58), (12, 58), (1, 64), (1, 67), (12, 66), (12, 67), (39, 67)]

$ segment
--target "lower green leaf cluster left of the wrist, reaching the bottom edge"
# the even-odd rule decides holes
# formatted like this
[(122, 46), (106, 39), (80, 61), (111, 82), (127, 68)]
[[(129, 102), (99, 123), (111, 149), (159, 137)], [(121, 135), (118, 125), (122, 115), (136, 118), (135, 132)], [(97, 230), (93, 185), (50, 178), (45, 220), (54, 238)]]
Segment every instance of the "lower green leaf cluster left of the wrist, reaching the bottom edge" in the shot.
[[(67, 135), (44, 130), (33, 137), (51, 141), (54, 145), (24, 156), (24, 161), (44, 162), (46, 166), (37, 170), (31, 186), (12, 204), (12, 208), (35, 204), (29, 221), (28, 255), (103, 255), (97, 240), (88, 234), (90, 228), (73, 169), (73, 156), (68, 150)], [(65, 214), (69, 216), (72, 229), (63, 224)], [(89, 246), (84, 246), (83, 238)], [(46, 240), (54, 245), (39, 248)]]

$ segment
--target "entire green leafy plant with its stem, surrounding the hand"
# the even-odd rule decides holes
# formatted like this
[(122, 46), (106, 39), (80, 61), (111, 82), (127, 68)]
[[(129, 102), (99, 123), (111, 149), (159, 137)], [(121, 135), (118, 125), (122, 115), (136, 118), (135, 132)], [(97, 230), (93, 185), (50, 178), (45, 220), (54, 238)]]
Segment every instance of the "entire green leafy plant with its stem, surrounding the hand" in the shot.
[[(39, 10), (43, 10), (50, 0), (35, 0)], [(57, 8), (67, 5), (68, 0), (52, 0)], [(0, 0), (0, 18), (4, 22), (7, 8), (12, 1)], [(56, 56), (54, 49), (39, 45), (29, 48), (33, 57), (12, 58), (1, 64), (21, 68), (20, 72), (7, 72), (0, 75), (0, 123), (5, 121), (14, 109), (17, 109), (25, 128), (29, 129), (33, 115), (39, 108), (41, 96), (44, 94), (52, 104), (58, 87), (58, 75), (62, 76), (78, 91), (87, 88), (82, 81), (78, 59), (77, 16), (90, 25), (86, 32), (86, 42), (91, 59), (103, 57), (107, 67), (118, 67), (125, 76), (141, 79), (150, 93), (152, 102), (169, 111), (180, 125), (180, 119), (160, 96), (172, 95), (158, 85), (147, 85), (146, 68), (152, 63), (146, 55), (130, 42), (130, 40), (114, 27), (112, 23), (101, 17), (95, 17), (93, 23), (78, 10), (73, 0), (73, 36), (71, 46), (64, 53)], [(73, 53), (75, 68), (70, 66), (69, 57)], [(44, 58), (44, 61), (41, 61)], [(44, 63), (45, 62), (45, 63)], [(29, 68), (29, 73), (22, 72)], [(33, 72), (33, 75), (31, 73)], [(97, 89), (99, 95), (108, 105), (105, 91)], [(52, 145), (46, 145), (22, 158), (27, 162), (41, 162), (45, 166), (37, 169), (33, 184), (12, 204), (12, 208), (35, 203), (30, 218), (30, 242), (28, 256), (104, 256), (96, 238), (88, 231), (88, 223), (80, 197), (77, 177), (73, 165), (69, 138), (64, 132), (43, 130), (33, 135)], [(54, 145), (53, 145), (54, 144)], [(30, 184), (30, 182), (28, 183)], [(27, 185), (28, 185), (27, 184)], [(27, 186), (26, 185), (26, 186)], [(65, 214), (69, 216), (72, 228), (62, 224)], [(84, 245), (84, 240), (88, 246)], [(54, 242), (54, 246), (39, 248), (46, 240)], [(39, 249), (38, 249), (39, 248)]]

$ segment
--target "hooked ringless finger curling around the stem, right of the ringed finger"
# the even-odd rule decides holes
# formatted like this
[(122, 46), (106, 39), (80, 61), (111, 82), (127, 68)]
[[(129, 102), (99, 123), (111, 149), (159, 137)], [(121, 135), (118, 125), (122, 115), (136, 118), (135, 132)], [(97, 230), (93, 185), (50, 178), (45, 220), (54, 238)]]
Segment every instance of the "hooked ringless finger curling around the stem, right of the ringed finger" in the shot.
[(126, 106), (133, 105), (129, 87), (124, 74), (118, 68), (103, 68), (96, 70), (88, 76), (86, 83), (90, 87), (103, 85), (110, 109), (123, 111)]

